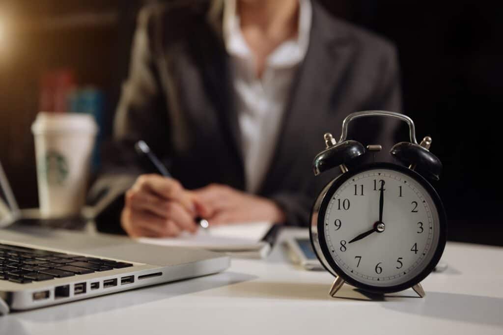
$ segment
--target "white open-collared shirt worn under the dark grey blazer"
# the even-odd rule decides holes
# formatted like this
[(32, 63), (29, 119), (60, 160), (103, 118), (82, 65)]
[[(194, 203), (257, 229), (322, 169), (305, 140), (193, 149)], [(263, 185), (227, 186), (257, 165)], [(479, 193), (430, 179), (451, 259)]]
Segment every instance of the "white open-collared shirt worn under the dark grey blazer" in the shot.
[(235, 110), (241, 131), (246, 190), (259, 192), (276, 149), (295, 72), (305, 57), (311, 30), (310, 0), (299, 0), (298, 34), (280, 44), (267, 58), (262, 78), (241, 34), (236, 0), (225, 0), (223, 36), (231, 56)]

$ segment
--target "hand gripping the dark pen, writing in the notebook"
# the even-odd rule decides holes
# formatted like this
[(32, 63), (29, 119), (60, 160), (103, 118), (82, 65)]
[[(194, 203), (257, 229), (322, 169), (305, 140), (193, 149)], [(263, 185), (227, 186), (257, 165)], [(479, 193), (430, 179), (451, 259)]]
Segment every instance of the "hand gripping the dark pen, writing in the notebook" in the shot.
[(197, 204), (175, 179), (142, 175), (126, 192), (125, 200), (121, 225), (130, 236), (177, 236), (197, 230)]

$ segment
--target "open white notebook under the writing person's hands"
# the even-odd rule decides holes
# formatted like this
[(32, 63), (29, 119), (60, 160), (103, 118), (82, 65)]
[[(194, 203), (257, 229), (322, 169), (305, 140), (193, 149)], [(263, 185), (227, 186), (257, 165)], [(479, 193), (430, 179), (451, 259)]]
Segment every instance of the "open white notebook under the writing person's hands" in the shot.
[(185, 246), (224, 252), (233, 257), (262, 259), (269, 255), (270, 240), (264, 238), (270, 232), (270, 222), (234, 223), (199, 229), (197, 233), (182, 233), (177, 237), (141, 237), (141, 243)]

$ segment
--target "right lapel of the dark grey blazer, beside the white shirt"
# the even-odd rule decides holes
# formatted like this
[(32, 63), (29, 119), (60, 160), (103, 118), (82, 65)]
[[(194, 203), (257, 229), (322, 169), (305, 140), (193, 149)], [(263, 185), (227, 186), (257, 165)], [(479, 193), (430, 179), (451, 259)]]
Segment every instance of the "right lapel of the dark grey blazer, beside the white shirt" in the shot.
[[(302, 137), (309, 136), (306, 122), (315, 122), (317, 115), (326, 113), (330, 99), (338, 94), (339, 82), (345, 79), (353, 53), (344, 26), (337, 24), (316, 2), (312, 2), (312, 5), (309, 48), (292, 85), (275, 154), (262, 183), (261, 194), (274, 193), (276, 181), (282, 179), (285, 167), (294, 163), (296, 151), (304, 146)], [(327, 125), (327, 129), (333, 129), (334, 126)], [(321, 135), (320, 143), (322, 148)], [(306, 170), (306, 173), (310, 173), (310, 170)]]

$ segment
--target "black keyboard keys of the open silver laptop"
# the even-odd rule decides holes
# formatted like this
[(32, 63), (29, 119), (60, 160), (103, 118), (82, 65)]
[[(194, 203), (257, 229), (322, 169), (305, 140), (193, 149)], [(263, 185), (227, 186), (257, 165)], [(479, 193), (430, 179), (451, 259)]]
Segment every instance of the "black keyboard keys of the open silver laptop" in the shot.
[(19, 284), (132, 266), (130, 263), (0, 243), (0, 280)]

